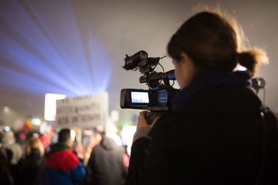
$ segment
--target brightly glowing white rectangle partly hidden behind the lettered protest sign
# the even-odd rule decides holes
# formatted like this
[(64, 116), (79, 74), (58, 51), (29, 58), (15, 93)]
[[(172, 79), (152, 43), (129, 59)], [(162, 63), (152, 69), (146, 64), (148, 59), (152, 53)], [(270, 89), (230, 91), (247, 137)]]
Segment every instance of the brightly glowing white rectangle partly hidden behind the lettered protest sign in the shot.
[(56, 100), (61, 100), (67, 96), (63, 94), (45, 94), (44, 99), (44, 119), (46, 121), (55, 121)]

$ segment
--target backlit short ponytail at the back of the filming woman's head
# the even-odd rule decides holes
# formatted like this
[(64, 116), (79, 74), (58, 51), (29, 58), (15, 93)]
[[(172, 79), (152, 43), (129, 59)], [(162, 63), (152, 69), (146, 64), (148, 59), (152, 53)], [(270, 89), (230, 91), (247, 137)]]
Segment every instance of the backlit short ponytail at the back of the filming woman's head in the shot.
[(253, 48), (241, 53), (236, 54), (237, 62), (246, 67), (247, 71), (250, 73), (250, 77), (258, 71), (260, 64), (268, 64), (268, 56), (266, 52), (259, 48)]

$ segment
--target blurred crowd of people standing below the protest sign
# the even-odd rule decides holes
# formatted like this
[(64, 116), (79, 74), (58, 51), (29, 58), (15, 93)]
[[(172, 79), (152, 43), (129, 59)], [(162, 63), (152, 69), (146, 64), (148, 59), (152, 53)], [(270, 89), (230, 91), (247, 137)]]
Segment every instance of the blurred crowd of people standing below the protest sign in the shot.
[(0, 184), (124, 184), (129, 155), (102, 130), (94, 129), (91, 152), (84, 164), (85, 150), (71, 130), (58, 132), (58, 141), (44, 147), (43, 138), (31, 134), (17, 143), (13, 131), (1, 132)]

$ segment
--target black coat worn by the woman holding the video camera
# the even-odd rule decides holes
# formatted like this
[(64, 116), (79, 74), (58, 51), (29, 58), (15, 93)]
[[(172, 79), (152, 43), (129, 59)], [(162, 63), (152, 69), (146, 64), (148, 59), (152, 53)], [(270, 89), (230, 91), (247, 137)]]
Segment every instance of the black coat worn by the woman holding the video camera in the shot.
[(203, 91), (133, 143), (126, 184), (255, 184), (261, 101), (247, 87)]

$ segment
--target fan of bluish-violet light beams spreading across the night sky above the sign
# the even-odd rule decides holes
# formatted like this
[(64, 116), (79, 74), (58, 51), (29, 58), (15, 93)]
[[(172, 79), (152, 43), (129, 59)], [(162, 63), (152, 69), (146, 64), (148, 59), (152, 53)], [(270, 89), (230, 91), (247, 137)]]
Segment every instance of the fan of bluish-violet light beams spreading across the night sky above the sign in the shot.
[[(92, 30), (81, 39), (70, 1), (35, 3), (0, 3), (0, 84), (35, 94), (106, 91), (111, 60)], [(51, 14), (43, 14), (44, 7)]]

